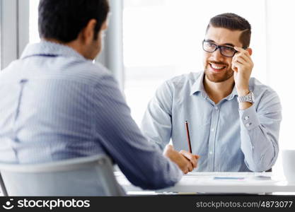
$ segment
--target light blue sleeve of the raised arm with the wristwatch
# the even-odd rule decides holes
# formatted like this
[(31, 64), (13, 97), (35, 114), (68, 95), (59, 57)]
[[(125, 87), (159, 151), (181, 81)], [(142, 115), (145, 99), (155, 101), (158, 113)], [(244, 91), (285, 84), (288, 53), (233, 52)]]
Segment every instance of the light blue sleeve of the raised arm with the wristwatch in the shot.
[(241, 150), (245, 163), (253, 172), (269, 170), (279, 153), (279, 126), (282, 106), (277, 93), (267, 90), (247, 110), (240, 110)]

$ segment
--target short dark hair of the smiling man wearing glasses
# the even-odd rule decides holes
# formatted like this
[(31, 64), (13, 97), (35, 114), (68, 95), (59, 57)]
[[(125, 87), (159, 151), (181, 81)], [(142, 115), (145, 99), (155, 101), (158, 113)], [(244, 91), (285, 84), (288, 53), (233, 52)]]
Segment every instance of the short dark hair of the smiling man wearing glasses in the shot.
[(243, 44), (243, 47), (249, 47), (251, 40), (251, 25), (248, 20), (245, 20), (245, 18), (242, 18), (235, 13), (223, 13), (210, 19), (206, 33), (210, 26), (243, 31), (240, 41)]

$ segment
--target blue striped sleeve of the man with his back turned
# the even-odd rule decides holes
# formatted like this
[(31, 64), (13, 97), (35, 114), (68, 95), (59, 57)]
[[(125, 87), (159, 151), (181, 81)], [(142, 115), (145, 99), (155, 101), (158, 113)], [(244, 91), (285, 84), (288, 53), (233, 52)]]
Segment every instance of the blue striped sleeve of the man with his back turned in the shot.
[[(149, 143), (130, 115), (113, 78), (93, 90), (93, 133), (132, 184), (143, 189), (173, 186), (182, 176), (178, 166)], [(102, 121), (103, 120), (103, 121)]]

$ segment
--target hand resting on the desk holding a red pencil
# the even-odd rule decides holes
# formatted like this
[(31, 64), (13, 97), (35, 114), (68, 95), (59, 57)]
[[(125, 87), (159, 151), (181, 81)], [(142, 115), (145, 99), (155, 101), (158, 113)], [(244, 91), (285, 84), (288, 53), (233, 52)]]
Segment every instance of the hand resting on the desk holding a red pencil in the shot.
[(197, 167), (197, 159), (199, 158), (199, 156), (192, 155), (187, 151), (180, 152), (181, 153), (175, 151), (173, 146), (169, 144), (164, 149), (163, 155), (165, 155), (167, 158), (170, 158), (173, 163), (176, 163), (178, 165), (183, 173), (187, 174), (187, 172), (191, 172), (195, 167)]

